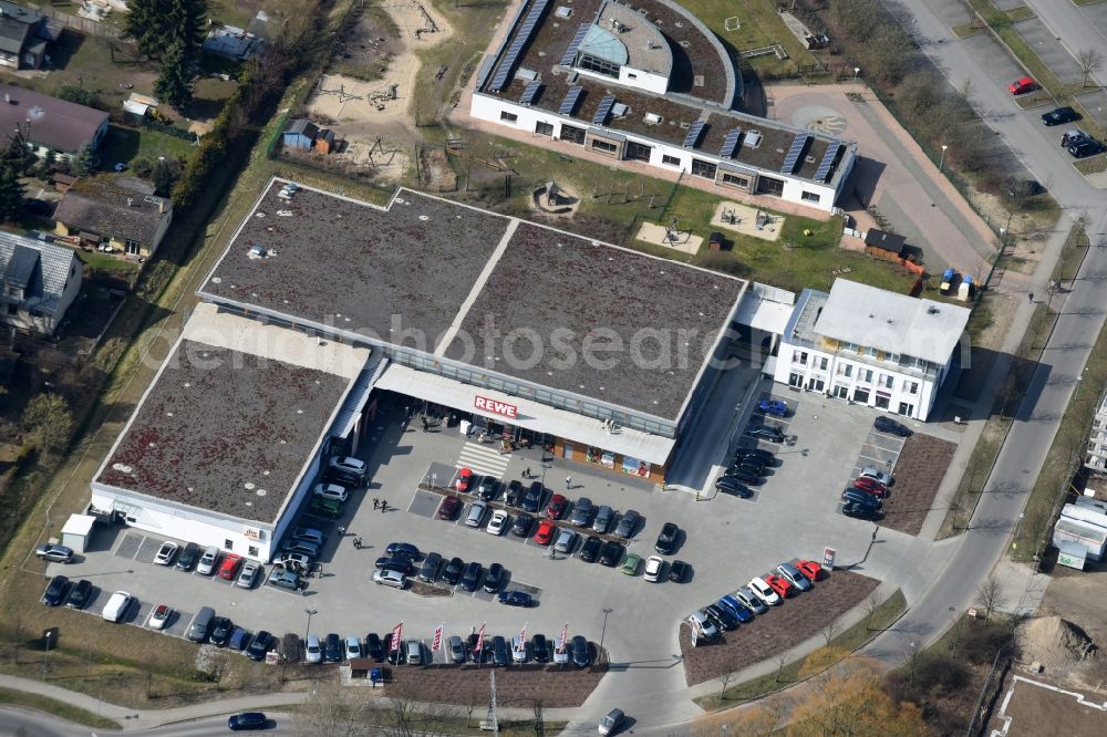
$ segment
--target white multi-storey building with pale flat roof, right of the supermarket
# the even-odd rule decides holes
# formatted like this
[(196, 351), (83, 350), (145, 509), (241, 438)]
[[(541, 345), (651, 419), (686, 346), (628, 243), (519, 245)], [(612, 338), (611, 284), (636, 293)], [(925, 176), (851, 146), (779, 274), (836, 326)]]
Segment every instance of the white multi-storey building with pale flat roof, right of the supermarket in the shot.
[(774, 378), (925, 421), (958, 359), (970, 311), (847, 279), (804, 290)]

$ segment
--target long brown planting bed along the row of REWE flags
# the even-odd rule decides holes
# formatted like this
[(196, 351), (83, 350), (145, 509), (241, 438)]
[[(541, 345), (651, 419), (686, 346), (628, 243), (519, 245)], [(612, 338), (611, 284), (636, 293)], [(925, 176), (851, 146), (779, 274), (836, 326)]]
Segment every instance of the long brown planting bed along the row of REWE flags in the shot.
[(535, 702), (541, 702), (546, 708), (580, 706), (608, 671), (606, 665), (590, 668), (571, 665), (401, 666), (390, 669), (391, 679), (384, 686), (384, 695), (434, 704), (476, 704), (483, 712), (490, 696), (488, 673), (493, 669), (496, 671), (496, 704), (508, 708), (531, 708)]

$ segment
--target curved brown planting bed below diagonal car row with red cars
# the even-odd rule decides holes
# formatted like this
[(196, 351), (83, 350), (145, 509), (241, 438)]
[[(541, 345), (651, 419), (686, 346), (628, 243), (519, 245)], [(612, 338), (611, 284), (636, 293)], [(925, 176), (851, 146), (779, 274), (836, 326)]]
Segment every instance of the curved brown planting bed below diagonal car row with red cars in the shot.
[(810, 591), (699, 647), (692, 646), (689, 629), (682, 626), (680, 640), (684, 677), (692, 686), (766, 661), (818, 634), (827, 624), (861, 603), (879, 584), (879, 581), (866, 575), (836, 571)]

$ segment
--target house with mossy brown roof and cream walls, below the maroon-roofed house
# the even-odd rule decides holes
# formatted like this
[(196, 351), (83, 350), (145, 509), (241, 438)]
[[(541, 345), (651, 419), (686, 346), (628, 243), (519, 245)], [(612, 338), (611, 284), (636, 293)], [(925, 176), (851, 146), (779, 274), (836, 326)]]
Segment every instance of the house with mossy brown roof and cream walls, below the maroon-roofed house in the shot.
[(157, 250), (173, 220), (173, 201), (108, 179), (77, 179), (54, 211), (54, 232), (82, 247), (139, 259)]

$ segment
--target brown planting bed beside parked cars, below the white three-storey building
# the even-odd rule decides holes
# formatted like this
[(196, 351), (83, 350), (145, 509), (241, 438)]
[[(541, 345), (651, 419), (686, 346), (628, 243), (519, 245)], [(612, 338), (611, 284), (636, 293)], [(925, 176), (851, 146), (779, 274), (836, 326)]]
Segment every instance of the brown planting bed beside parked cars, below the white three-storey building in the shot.
[(955, 443), (931, 435), (915, 433), (907, 439), (896, 461), (896, 484), (884, 499), (881, 527), (919, 534), (956, 449)]

